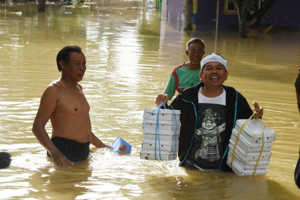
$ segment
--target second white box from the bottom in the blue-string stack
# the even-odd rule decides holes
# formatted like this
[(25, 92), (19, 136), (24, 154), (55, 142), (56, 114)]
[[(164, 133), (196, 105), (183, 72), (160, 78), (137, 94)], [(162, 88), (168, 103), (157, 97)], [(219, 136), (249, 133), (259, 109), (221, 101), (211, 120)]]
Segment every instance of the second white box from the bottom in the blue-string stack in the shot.
[[(164, 141), (156, 140), (156, 150), (159, 151), (178, 151), (179, 141)], [(143, 139), (142, 141), (143, 150), (155, 150), (155, 140)]]

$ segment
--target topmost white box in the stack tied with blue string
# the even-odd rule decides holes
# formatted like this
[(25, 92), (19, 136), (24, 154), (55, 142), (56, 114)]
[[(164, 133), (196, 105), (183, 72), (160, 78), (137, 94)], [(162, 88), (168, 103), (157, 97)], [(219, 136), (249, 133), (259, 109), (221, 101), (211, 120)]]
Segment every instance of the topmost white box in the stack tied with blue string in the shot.
[[(152, 111), (153, 109), (145, 108), (143, 118), (156, 120), (158, 109), (155, 109), (153, 112)], [(180, 110), (160, 109), (158, 119), (166, 121), (180, 121)]]

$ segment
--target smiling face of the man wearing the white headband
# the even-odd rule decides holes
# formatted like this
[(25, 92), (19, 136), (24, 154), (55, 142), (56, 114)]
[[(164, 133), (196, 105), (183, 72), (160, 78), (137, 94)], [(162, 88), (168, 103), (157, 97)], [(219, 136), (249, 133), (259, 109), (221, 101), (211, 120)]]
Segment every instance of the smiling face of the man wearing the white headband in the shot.
[(206, 63), (200, 72), (200, 79), (205, 87), (222, 87), (227, 77), (228, 71), (225, 71), (223, 64), (217, 61)]

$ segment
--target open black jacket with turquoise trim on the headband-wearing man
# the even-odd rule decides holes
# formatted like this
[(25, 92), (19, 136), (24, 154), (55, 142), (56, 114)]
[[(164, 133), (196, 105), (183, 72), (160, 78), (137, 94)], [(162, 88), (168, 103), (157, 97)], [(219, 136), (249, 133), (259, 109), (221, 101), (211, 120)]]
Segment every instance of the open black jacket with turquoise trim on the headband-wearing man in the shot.
[[(179, 149), (178, 157), (180, 160), (179, 166), (183, 163), (187, 157), (190, 146), (192, 145), (193, 138), (196, 131), (196, 120), (198, 112), (198, 91), (200, 87), (203, 87), (203, 82), (198, 85), (182, 90), (182, 92), (173, 100), (169, 109), (180, 110), (180, 135), (179, 135)], [(251, 110), (247, 100), (234, 88), (229, 86), (222, 87), (226, 91), (226, 139), (222, 142), (222, 152), (225, 152), (229, 143), (233, 125), (235, 124), (235, 101), (237, 98), (237, 119), (248, 119), (253, 111)], [(221, 156), (221, 158), (223, 155)], [(230, 167), (226, 164), (227, 154), (225, 155), (222, 163), (221, 170), (231, 171)]]

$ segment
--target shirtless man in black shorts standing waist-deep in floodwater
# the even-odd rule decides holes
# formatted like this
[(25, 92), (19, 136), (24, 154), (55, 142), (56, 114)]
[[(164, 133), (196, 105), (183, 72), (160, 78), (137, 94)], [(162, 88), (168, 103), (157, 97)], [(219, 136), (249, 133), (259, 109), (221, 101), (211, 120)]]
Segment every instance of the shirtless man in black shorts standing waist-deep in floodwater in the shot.
[[(91, 131), (89, 104), (77, 82), (85, 70), (85, 56), (78, 46), (65, 46), (56, 57), (61, 78), (52, 82), (41, 97), (32, 132), (43, 145), (48, 156), (58, 166), (73, 164), (71, 161), (86, 160), (89, 145), (103, 148), (105, 145)], [(52, 125), (51, 140), (45, 130)]]

